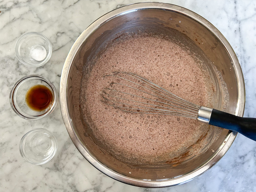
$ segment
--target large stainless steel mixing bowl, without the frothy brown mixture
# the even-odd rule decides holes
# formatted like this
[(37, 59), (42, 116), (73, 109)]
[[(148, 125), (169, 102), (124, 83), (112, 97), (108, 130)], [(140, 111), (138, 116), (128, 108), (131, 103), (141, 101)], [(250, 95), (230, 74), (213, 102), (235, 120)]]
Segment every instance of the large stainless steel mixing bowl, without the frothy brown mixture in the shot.
[[(236, 133), (223, 130), (198, 157), (180, 164), (134, 166), (118, 161), (97, 145), (82, 122), (79, 93), (86, 62), (110, 37), (120, 31), (144, 26), (172, 30), (187, 36), (222, 74), (229, 92), (227, 112), (242, 116), (245, 104), (244, 80), (238, 59), (225, 37), (207, 20), (185, 8), (164, 3), (138, 3), (113, 10), (93, 22), (72, 46), (61, 75), (60, 105), (67, 131), (80, 153), (106, 175), (136, 186), (165, 187), (187, 182), (212, 167), (227, 152)], [(220, 82), (216, 81), (217, 84)], [(219, 87), (221, 87), (219, 85)], [(221, 102), (219, 89), (216, 102)], [(221, 109), (221, 107), (218, 107)], [(168, 146), (167, 146), (168, 147)], [(213, 150), (214, 149), (214, 150)]]

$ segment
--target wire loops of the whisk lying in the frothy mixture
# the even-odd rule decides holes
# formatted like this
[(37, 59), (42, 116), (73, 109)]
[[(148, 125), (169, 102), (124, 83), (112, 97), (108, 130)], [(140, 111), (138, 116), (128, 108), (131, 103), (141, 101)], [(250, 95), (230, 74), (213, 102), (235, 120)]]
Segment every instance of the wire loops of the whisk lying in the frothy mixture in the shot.
[[(129, 90), (132, 90), (132, 92), (129, 93), (118, 89), (106, 88), (103, 91), (103, 102), (107, 105), (114, 106), (125, 112), (183, 116), (191, 119), (197, 118), (200, 106), (176, 96), (139, 75), (129, 72), (113, 72), (113, 74), (104, 77), (108, 76), (119, 79), (119, 82), (112, 81), (110, 83), (111, 87), (117, 86), (118, 89), (120, 87), (123, 89), (125, 86)], [(124, 83), (120, 83), (123, 80)], [(135, 81), (138, 81), (138, 83)]]

